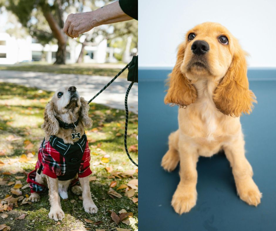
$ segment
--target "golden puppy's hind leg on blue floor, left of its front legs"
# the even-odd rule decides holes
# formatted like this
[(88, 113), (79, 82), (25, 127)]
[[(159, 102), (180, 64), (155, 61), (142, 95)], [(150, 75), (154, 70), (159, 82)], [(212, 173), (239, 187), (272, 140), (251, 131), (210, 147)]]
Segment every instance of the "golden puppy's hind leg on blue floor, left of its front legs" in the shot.
[(179, 130), (169, 135), (169, 150), (162, 158), (161, 166), (166, 171), (173, 171), (179, 162), (178, 152)]

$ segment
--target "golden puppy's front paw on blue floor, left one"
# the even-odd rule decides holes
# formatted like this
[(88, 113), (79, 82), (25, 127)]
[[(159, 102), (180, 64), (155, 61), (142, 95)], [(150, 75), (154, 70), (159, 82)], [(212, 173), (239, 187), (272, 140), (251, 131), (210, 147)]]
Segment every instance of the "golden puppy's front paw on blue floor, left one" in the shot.
[(196, 205), (197, 193), (175, 192), (171, 201), (176, 213), (188, 213)]

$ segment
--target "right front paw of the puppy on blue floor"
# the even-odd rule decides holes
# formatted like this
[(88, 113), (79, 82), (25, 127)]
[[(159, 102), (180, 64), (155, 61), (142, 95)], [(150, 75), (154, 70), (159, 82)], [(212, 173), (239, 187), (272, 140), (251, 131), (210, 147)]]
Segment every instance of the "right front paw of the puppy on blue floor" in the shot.
[(250, 182), (249, 186), (241, 184), (238, 188), (238, 195), (240, 196), (240, 199), (249, 205), (257, 206), (261, 203), (262, 193), (253, 180)]

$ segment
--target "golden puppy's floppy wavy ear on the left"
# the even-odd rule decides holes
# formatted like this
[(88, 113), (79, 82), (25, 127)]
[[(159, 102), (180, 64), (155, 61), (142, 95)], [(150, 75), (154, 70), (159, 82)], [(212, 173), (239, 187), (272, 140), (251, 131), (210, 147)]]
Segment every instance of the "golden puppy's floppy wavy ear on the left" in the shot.
[(177, 61), (173, 71), (169, 74), (168, 85), (169, 89), (164, 98), (164, 102), (171, 103), (172, 106), (180, 107), (188, 106), (196, 100), (196, 89), (180, 70), (183, 62), (185, 51), (185, 43), (179, 45), (177, 53)]

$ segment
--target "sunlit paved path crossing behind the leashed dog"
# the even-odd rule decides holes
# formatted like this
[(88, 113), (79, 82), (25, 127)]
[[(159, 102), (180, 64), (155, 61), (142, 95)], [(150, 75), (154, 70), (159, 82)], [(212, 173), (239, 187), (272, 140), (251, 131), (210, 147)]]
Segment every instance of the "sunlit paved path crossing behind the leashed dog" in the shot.
[[(80, 96), (90, 100), (113, 77), (53, 74), (45, 72), (0, 71), (0, 82), (34, 86), (55, 91), (59, 86), (76, 86)], [(112, 108), (124, 109), (124, 97), (130, 82), (118, 77), (105, 91), (93, 100)], [(134, 84), (128, 96), (129, 111), (138, 113), (138, 84)]]

